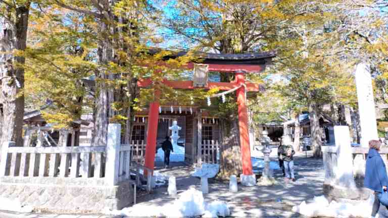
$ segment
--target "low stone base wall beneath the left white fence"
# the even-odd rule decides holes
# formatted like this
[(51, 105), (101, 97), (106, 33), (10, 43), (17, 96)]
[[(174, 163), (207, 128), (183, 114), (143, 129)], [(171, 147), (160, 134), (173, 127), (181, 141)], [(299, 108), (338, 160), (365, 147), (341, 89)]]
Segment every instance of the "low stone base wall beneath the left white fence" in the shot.
[[(27, 178), (26, 178), (27, 179)], [(122, 209), (133, 203), (132, 182), (117, 186), (52, 185), (38, 183), (0, 182), (0, 196), (18, 198), (23, 205), (38, 210), (70, 213), (100, 213), (102, 209)]]

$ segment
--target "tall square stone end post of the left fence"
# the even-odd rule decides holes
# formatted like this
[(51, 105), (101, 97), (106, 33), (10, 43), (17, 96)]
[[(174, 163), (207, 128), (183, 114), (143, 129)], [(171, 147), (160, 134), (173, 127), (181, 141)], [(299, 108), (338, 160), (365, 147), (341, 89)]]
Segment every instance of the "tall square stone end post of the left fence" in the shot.
[(105, 165), (105, 183), (117, 185), (120, 162), (121, 125), (108, 125), (107, 159)]

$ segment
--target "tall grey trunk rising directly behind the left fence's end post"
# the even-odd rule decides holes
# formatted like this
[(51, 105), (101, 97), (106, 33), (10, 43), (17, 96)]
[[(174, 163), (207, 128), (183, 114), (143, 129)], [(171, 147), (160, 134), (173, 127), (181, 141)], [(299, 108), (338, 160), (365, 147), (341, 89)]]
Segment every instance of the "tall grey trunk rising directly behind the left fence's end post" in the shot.
[(107, 65), (113, 60), (112, 41), (109, 39), (110, 25), (100, 21), (100, 32), (102, 39), (99, 41), (98, 61), (100, 69), (95, 72), (96, 95), (94, 110), (94, 133), (92, 144), (95, 146), (106, 145), (108, 140), (109, 119), (113, 116), (111, 103), (113, 99), (113, 88), (107, 84), (107, 80), (113, 75), (108, 71)]

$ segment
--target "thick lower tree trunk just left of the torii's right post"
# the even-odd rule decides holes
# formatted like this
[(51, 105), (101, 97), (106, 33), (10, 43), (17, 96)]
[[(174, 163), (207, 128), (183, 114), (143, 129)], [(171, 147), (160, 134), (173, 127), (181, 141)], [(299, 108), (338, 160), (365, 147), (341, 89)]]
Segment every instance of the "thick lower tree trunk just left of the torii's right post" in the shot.
[(220, 173), (217, 178), (227, 180), (231, 175), (243, 173), (239, 143), (238, 120), (220, 120)]

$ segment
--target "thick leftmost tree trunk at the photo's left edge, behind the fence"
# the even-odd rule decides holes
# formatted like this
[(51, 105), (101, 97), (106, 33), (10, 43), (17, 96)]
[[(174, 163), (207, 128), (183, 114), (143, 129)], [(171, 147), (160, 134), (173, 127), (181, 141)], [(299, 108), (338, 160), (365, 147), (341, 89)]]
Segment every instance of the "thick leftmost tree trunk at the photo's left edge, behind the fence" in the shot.
[(26, 48), (28, 14), (29, 4), (26, 3), (16, 6), (13, 24), (0, 17), (0, 25), (3, 27), (0, 33), (0, 73), (3, 77), (0, 94), (3, 134), (0, 146), (5, 141), (15, 141), (18, 146), (23, 146), (24, 95), (21, 90), (24, 88), (25, 58), (14, 56), (12, 51)]

